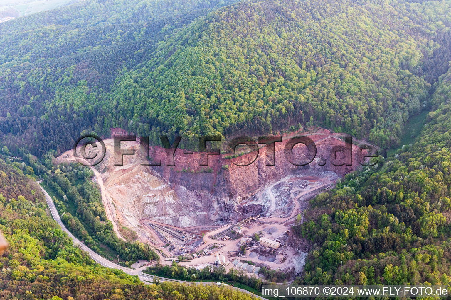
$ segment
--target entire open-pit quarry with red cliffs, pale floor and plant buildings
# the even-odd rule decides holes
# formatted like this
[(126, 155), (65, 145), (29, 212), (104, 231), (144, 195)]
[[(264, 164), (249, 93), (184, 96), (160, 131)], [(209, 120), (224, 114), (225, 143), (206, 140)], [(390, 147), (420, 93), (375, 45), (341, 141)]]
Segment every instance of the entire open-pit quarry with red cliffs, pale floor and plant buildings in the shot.
[[(137, 240), (156, 249), (161, 264), (178, 260), (199, 269), (221, 265), (249, 276), (259, 276), (267, 267), (295, 276), (302, 272), (307, 253), (290, 245), (292, 226), (297, 218), (304, 221), (308, 201), (360, 167), (356, 157), (362, 155), (352, 144), (352, 163), (341, 158), (342, 166), (337, 166), (330, 153), (345, 146), (341, 134), (303, 134), (317, 145), (316, 158), (307, 166), (286, 161), (287, 137), (276, 144), (275, 166), (267, 166), (264, 147), (249, 166), (235, 166), (224, 155), (210, 156), (211, 167), (199, 166), (198, 153), (184, 155), (181, 149), (175, 151), (175, 166), (165, 166), (165, 149), (152, 146), (150, 156), (161, 159), (161, 166), (143, 166), (138, 141), (121, 142), (121, 149), (134, 148), (136, 154), (124, 155), (123, 165), (115, 166), (110, 138), (104, 140), (105, 158), (92, 170), (115, 232), (124, 239), (136, 233)], [(304, 148), (293, 152), (302, 156)], [(252, 153), (241, 159), (247, 157), (252, 159)], [(75, 161), (73, 150), (56, 160)]]

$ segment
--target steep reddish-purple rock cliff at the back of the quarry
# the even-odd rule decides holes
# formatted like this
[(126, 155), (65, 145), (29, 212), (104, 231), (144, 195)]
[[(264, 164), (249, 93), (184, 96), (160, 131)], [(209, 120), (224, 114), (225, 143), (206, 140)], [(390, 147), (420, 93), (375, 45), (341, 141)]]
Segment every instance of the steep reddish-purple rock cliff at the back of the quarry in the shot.
[[(160, 147), (151, 147), (152, 161), (161, 159), (161, 166), (152, 166), (157, 174), (161, 175), (176, 196), (168, 196), (166, 201), (173, 201), (184, 207), (167, 210), (166, 206), (156, 206), (157, 200), (147, 201), (143, 196), (143, 218), (152, 218), (167, 224), (181, 227), (206, 225), (229, 222), (232, 219), (242, 219), (249, 215), (263, 214), (267, 207), (256, 203), (255, 195), (267, 184), (274, 183), (287, 175), (302, 175), (333, 171), (338, 175), (344, 175), (360, 167), (358, 156), (360, 148), (352, 145), (352, 165), (335, 166), (343, 162), (343, 152), (337, 152), (332, 164), (331, 152), (337, 146), (345, 147), (341, 134), (331, 134), (327, 130), (315, 134), (309, 134), (317, 147), (316, 158), (307, 166), (295, 166), (287, 161), (284, 148), (288, 138), (275, 145), (275, 166), (267, 166), (268, 154), (266, 147), (259, 149), (256, 161), (249, 166), (235, 166), (226, 158), (226, 155), (211, 155), (208, 157), (208, 166), (199, 166), (200, 153), (184, 154), (177, 149), (175, 152), (175, 166), (166, 166), (166, 150)], [(295, 154), (306, 154), (306, 147), (294, 149)], [(361, 156), (361, 155), (360, 155)], [(252, 161), (255, 152), (244, 154), (239, 161)], [(325, 164), (320, 166), (321, 162)], [(323, 164), (322, 163), (322, 164)], [(228, 168), (227, 168), (228, 166)], [(162, 196), (164, 197), (164, 196)], [(161, 198), (159, 198), (161, 199)], [(158, 200), (163, 201), (163, 200)], [(291, 207), (289, 200), (278, 203), (285, 207)], [(147, 205), (153, 208), (147, 208)], [(162, 220), (164, 219), (164, 220)]]

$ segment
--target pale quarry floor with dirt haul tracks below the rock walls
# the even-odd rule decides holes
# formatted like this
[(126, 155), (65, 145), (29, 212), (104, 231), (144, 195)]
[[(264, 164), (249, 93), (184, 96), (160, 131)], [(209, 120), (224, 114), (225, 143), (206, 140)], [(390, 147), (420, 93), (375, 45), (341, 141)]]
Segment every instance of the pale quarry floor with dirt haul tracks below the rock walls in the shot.
[[(112, 139), (106, 139), (105, 144), (107, 147), (112, 147)], [(137, 142), (127, 142), (127, 147), (137, 146)], [(63, 153), (60, 157), (56, 159), (58, 162), (74, 162), (75, 158), (73, 155), (73, 150)], [(82, 159), (83, 160), (83, 159)], [(136, 164), (128, 164), (124, 165), (124, 168), (134, 168), (138, 166), (139, 163)], [(161, 223), (152, 219), (139, 219), (135, 224), (130, 224), (127, 221), (127, 218), (124, 217), (124, 208), (127, 206), (123, 206), (122, 210), (119, 210), (117, 202), (115, 201), (115, 195), (108, 193), (109, 184), (114, 184), (114, 179), (117, 176), (120, 176), (120, 173), (111, 173), (111, 175), (104, 180), (105, 176), (97, 170), (96, 167), (91, 167), (94, 171), (95, 181), (99, 184), (101, 190), (101, 196), (103, 205), (106, 210), (107, 218), (113, 223), (113, 229), (115, 233), (123, 239), (126, 239), (122, 234), (123, 231), (120, 230), (122, 226), (129, 228), (138, 233), (138, 236), (146, 237), (146, 240), (140, 239), (141, 242), (147, 242), (149, 245), (156, 248), (156, 252), (160, 256), (161, 264), (171, 264), (172, 260), (178, 259), (176, 255), (180, 253), (195, 253), (200, 252), (202, 250), (209, 250), (212, 246), (218, 246), (220, 257), (224, 255), (225, 260), (228, 262), (226, 265), (226, 270), (230, 268), (235, 268), (231, 262), (235, 259), (243, 260), (243, 261), (251, 261), (258, 265), (265, 265), (271, 269), (288, 269), (295, 268), (296, 272), (301, 272), (304, 266), (304, 260), (306, 257), (306, 253), (300, 252), (298, 249), (291, 247), (287, 243), (274, 252), (274, 256), (281, 252), (285, 255), (285, 259), (280, 263), (277, 260), (271, 261), (262, 261), (259, 259), (259, 255), (253, 254), (253, 250), (246, 251), (244, 255), (232, 256), (231, 253), (238, 251), (241, 247), (240, 239), (235, 240), (222, 240), (220, 237), (214, 238), (217, 234), (223, 232), (226, 228), (230, 228), (234, 225), (234, 223), (224, 224), (223, 226), (192, 226), (192, 227), (176, 227), (170, 224)], [(264, 193), (266, 201), (270, 201), (267, 203), (269, 209), (267, 210), (265, 216), (260, 216), (257, 219), (250, 220), (247, 224), (244, 224), (242, 227), (242, 233), (244, 237), (253, 237), (256, 233), (258, 233), (259, 237), (267, 237), (272, 240), (284, 237), (284, 233), (287, 230), (291, 230), (291, 227), (295, 224), (295, 219), (297, 215), (301, 214), (303, 210), (307, 207), (308, 201), (312, 199), (316, 194), (321, 193), (321, 191), (330, 188), (332, 185), (336, 183), (336, 179), (338, 176), (333, 172), (322, 172), (322, 174), (299, 174), (299, 175), (290, 175), (286, 176), (283, 179), (280, 179), (274, 183), (268, 183), (262, 193)], [(297, 187), (296, 182), (299, 180), (303, 180), (303, 182), (308, 182), (308, 187), (301, 188)], [(292, 207), (284, 207), (285, 211), (288, 211), (286, 214), (281, 215), (280, 203), (278, 201), (278, 197), (280, 195), (277, 194), (275, 187), (278, 184), (288, 184), (290, 186), (290, 197), (292, 199)], [(159, 187), (157, 187), (159, 188)], [(138, 218), (138, 216), (136, 216)], [(304, 217), (302, 216), (301, 222), (304, 221)], [(180, 232), (180, 234), (186, 234), (193, 237), (191, 241), (194, 241), (190, 246), (187, 246), (186, 242), (171, 236), (171, 234), (164, 232), (162, 230), (156, 230), (155, 226), (159, 226), (159, 228), (168, 228), (170, 230), (174, 230)], [(203, 233), (203, 237), (202, 234)], [(196, 234), (198, 238), (196, 238)], [(202, 242), (202, 243), (201, 243)], [(169, 245), (169, 246), (168, 246)], [(173, 246), (173, 250), (169, 250), (170, 246)], [(186, 252), (183, 250), (185, 249)], [(214, 255), (206, 255), (200, 256), (198, 258), (190, 259), (189, 261), (179, 262), (179, 265), (183, 266), (193, 266), (202, 268), (206, 265), (212, 264), (216, 260)]]

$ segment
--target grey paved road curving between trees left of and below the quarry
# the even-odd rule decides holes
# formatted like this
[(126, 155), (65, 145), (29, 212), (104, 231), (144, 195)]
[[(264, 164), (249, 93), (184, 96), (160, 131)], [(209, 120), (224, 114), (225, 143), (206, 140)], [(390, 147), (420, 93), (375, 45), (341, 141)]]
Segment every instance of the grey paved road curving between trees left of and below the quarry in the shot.
[[(115, 263), (111, 262), (110, 260), (107, 260), (106, 258), (102, 257), (101, 255), (98, 255), (96, 252), (92, 251), (88, 246), (86, 246), (83, 242), (78, 240), (78, 238), (76, 238), (72, 233), (70, 233), (70, 231), (66, 228), (66, 226), (64, 226), (63, 221), (60, 218), (60, 214), (58, 213), (58, 210), (56, 209), (55, 203), (53, 202), (49, 193), (47, 193), (47, 191), (41, 187), (41, 185), (40, 185), (41, 182), (42, 182), (42, 180), (37, 181), (36, 183), (39, 185), (39, 187), (41, 188), (41, 191), (44, 193), (44, 195), (46, 197), (46, 202), (47, 202), (47, 205), (49, 206), (50, 213), (51, 213), (53, 219), (56, 221), (56, 223), (58, 225), (60, 225), (61, 229), (65, 233), (67, 233), (67, 235), (70, 238), (72, 238), (72, 241), (74, 242), (75, 245), (78, 245), (80, 247), (80, 249), (82, 249), (83, 251), (86, 251), (89, 254), (89, 256), (91, 256), (92, 260), (96, 261), (101, 266), (104, 266), (104, 267), (107, 267), (110, 269), (120, 269), (120, 270), (124, 271), (124, 273), (127, 273), (129, 275), (137, 275), (138, 278), (145, 284), (151, 284), (153, 282), (153, 278), (155, 278), (155, 277), (159, 278), (161, 282), (169, 281), (169, 282), (180, 282), (180, 283), (186, 283), (186, 284), (195, 283), (195, 284), (203, 284), (203, 285), (216, 283), (216, 282), (189, 282), (189, 281), (169, 279), (169, 278), (164, 278), (164, 277), (159, 277), (159, 276), (150, 276), (146, 273), (143, 273), (143, 271), (141, 271), (141, 270), (133, 270), (133, 269), (129, 269), (129, 268), (124, 268), (124, 267), (120, 266), (119, 264), (115, 264)], [(258, 299), (267, 300), (266, 298), (255, 295), (250, 291), (246, 291), (244, 289), (240, 289), (240, 288), (234, 287), (234, 286), (228, 286), (228, 287), (230, 287), (231, 289), (237, 290), (237, 291), (242, 291), (244, 293), (251, 294), (251, 295), (253, 295), (253, 297), (256, 297)]]

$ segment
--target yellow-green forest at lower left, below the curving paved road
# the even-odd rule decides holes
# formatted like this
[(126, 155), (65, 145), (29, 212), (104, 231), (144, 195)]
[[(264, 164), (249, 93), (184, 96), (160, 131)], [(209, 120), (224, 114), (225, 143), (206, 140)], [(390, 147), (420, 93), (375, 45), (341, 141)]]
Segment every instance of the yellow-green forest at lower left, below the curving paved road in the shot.
[(37, 184), (0, 159), (0, 230), (9, 242), (0, 257), (0, 299), (251, 299), (219, 287), (144, 285), (136, 276), (101, 267), (73, 246), (46, 207)]

